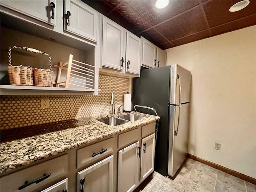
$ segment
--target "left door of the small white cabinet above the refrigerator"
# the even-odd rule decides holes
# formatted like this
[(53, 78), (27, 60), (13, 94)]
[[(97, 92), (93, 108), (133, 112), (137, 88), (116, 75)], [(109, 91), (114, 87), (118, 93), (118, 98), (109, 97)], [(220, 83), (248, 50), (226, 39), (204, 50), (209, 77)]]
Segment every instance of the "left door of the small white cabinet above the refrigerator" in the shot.
[(156, 67), (156, 46), (146, 39), (142, 39), (142, 65)]

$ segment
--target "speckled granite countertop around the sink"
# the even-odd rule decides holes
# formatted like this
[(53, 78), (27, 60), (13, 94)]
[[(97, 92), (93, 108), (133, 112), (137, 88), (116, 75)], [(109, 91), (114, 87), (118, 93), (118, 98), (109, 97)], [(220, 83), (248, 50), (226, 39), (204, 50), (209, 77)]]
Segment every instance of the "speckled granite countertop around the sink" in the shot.
[(2, 142), (0, 173), (160, 119), (158, 116), (139, 112), (122, 113), (119, 116), (124, 114), (138, 114), (146, 118), (118, 126), (109, 126), (96, 120), (103, 116), (81, 118), (76, 120), (75, 127), (72, 128)]

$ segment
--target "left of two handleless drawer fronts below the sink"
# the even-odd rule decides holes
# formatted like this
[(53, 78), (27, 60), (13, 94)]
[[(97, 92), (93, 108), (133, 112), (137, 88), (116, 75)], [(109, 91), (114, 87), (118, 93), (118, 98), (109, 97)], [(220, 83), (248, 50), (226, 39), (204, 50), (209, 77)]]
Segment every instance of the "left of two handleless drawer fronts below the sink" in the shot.
[(136, 128), (134, 130), (122, 133), (118, 135), (118, 148), (130, 144), (132, 142), (138, 141), (140, 139), (140, 129)]

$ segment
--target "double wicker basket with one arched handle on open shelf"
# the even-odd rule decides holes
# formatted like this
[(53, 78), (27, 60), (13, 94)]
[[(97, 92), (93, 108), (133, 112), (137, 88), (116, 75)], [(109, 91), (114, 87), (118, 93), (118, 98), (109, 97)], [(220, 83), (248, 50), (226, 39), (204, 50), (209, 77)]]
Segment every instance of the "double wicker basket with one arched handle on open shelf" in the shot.
[[(24, 67), (24, 66), (12, 66), (11, 65), (11, 50), (13, 48), (24, 49), (26, 51), (36, 53), (36, 54), (44, 54), (49, 57), (50, 69), (41, 69), (41, 68), (31, 68), (31, 67)], [(41, 52), (39, 50), (28, 48), (28, 47), (12, 47), (9, 48), (9, 65), (8, 66), (8, 74), (10, 79), (11, 85), (33, 85), (33, 71), (34, 71), (34, 85), (41, 86), (41, 87), (52, 87), (52, 79), (53, 79), (53, 71), (52, 71), (52, 59), (51, 56), (47, 53)], [(20, 71), (14, 71), (16, 70)], [(30, 69), (29, 75), (26, 75), (28, 72), (25, 72), (25, 69)], [(25, 80), (24, 80), (25, 79)], [(13, 82), (22, 82), (22, 84), (14, 84)]]

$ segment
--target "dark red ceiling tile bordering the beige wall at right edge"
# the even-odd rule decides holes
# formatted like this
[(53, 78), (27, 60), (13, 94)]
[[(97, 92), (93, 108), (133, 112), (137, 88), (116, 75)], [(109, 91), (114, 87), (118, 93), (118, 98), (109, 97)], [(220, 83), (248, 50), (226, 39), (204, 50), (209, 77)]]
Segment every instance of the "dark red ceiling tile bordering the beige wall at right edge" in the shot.
[(218, 35), (256, 24), (256, 14), (211, 28), (212, 35)]

